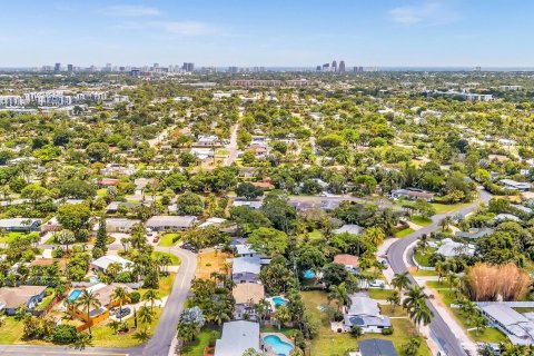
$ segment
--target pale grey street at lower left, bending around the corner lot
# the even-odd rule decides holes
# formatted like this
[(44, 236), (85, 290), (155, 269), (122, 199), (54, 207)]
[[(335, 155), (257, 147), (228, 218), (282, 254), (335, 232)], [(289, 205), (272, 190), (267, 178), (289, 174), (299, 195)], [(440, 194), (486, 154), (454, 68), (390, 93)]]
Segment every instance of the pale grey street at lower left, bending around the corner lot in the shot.
[(91, 356), (167, 356), (176, 336), (176, 326), (180, 319), (181, 310), (189, 293), (195, 269), (197, 268), (197, 255), (178, 248), (155, 247), (162, 253), (171, 253), (181, 260), (176, 275), (172, 290), (167, 299), (158, 326), (147, 344), (130, 348), (105, 348), (86, 347), (77, 350), (66, 346), (30, 346), (30, 345), (0, 345), (0, 356), (65, 356), (65, 355), (91, 355)]

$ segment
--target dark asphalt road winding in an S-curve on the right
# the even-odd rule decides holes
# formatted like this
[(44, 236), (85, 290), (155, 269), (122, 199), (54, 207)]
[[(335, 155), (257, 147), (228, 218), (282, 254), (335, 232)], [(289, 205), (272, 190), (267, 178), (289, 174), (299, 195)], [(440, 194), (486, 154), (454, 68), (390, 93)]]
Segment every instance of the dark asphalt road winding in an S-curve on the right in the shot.
[[(478, 207), (478, 204), (481, 201), (484, 201), (487, 204), (487, 201), (490, 201), (490, 199), (493, 197), (486, 190), (479, 190), (479, 195), (481, 195), (479, 198), (472, 205), (465, 208), (462, 208), (453, 214), (435, 215), (432, 217), (433, 222), (431, 225), (425, 226), (424, 228), (393, 244), (388, 248), (386, 254), (387, 260), (389, 261), (389, 266), (392, 267), (393, 271), (395, 274), (403, 274), (408, 271), (408, 268), (404, 261), (405, 250), (408, 248), (409, 245), (412, 245), (415, 240), (417, 240), (423, 234), (428, 235), (432, 231), (436, 230), (438, 228), (439, 221), (443, 218), (447, 216), (454, 216), (458, 212), (465, 216), (468, 212), (475, 210)], [(409, 279), (412, 280), (412, 284), (415, 284), (415, 279), (414, 277), (412, 277), (412, 275), (409, 276)], [(459, 345), (456, 336), (453, 334), (448, 325), (439, 316), (439, 313), (437, 313), (437, 310), (434, 308), (434, 306), (429, 301), (427, 301), (427, 305), (431, 308), (431, 310), (434, 313), (434, 318), (431, 323), (431, 330), (437, 337), (439, 347), (447, 354), (447, 356), (466, 356), (467, 354), (462, 348), (462, 345)]]

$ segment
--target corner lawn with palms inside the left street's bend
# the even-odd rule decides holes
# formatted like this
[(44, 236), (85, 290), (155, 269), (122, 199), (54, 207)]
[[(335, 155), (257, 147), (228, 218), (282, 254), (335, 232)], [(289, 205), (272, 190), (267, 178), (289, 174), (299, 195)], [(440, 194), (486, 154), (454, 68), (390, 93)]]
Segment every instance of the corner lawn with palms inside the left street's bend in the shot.
[[(156, 313), (156, 317), (154, 318), (152, 323), (149, 326), (148, 332), (150, 334), (156, 330), (156, 326), (158, 325), (159, 317), (161, 315), (161, 308), (154, 308), (154, 312)], [(135, 334), (136, 330), (132, 329), (134, 327), (134, 318), (129, 318), (126, 320), (128, 323), (128, 326), (130, 327), (130, 330), (127, 334), (120, 334), (120, 335), (115, 335), (113, 330), (109, 327), (108, 324), (101, 324), (92, 328), (92, 340), (93, 340), (93, 346), (98, 347), (131, 347), (131, 346), (137, 346), (140, 345), (141, 343), (136, 339)], [(141, 325), (138, 320), (138, 327), (142, 328), (144, 325)]]

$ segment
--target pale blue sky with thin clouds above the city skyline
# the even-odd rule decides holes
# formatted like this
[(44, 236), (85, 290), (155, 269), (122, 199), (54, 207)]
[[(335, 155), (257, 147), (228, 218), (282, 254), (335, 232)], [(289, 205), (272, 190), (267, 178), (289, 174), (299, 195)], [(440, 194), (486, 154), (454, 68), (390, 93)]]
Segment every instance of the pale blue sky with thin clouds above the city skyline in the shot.
[(0, 67), (534, 67), (528, 0), (17, 0)]

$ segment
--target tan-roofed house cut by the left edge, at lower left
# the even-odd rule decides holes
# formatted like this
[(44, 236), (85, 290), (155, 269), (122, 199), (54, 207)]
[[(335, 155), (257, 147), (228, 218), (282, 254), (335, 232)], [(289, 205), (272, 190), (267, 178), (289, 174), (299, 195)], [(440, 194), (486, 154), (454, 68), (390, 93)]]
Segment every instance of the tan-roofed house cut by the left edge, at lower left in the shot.
[(0, 313), (16, 315), (20, 306), (30, 310), (44, 298), (46, 286), (18, 286), (0, 288)]

